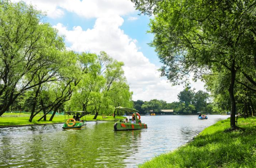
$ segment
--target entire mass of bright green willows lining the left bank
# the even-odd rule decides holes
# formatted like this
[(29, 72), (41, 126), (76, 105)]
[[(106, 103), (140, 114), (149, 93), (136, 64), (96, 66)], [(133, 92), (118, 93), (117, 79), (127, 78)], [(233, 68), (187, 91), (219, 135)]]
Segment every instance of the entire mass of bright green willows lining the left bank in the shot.
[(104, 51), (67, 51), (43, 17), (32, 5), (0, 0), (0, 116), (25, 110), (32, 122), (53, 111), (51, 121), (64, 109), (110, 114), (119, 105), (132, 107), (124, 63)]

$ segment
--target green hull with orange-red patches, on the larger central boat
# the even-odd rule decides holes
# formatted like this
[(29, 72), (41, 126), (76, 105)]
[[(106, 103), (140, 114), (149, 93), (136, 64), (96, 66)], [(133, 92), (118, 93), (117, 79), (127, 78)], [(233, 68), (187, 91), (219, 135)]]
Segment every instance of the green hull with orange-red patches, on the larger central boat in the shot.
[(121, 130), (138, 130), (138, 129), (145, 129), (148, 128), (146, 124), (131, 124), (126, 122), (116, 122), (114, 124), (115, 131)]

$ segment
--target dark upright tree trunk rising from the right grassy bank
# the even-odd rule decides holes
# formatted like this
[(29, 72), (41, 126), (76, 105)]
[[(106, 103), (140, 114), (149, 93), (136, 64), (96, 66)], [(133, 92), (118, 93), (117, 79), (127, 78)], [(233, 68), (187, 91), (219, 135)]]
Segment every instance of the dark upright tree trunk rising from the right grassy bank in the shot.
[(235, 125), (235, 111), (236, 111), (236, 104), (235, 104), (235, 96), (234, 96), (234, 85), (235, 85), (235, 60), (232, 60), (231, 66), (231, 81), (229, 85), (229, 96), (231, 100), (231, 114), (230, 114), (230, 126), (231, 129), (236, 129)]

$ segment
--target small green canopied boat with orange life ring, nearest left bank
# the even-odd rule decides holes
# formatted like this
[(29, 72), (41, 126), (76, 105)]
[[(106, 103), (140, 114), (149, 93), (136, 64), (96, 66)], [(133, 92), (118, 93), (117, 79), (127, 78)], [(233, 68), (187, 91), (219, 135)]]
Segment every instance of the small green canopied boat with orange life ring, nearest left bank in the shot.
[[(84, 129), (86, 125), (86, 117), (85, 117), (85, 111), (68, 111), (65, 112), (65, 120), (66, 120), (66, 114), (68, 115), (68, 120), (63, 124), (64, 130), (69, 129)], [(79, 114), (80, 117), (82, 117), (81, 121), (76, 121), (73, 118), (70, 118), (69, 115), (76, 115)]]

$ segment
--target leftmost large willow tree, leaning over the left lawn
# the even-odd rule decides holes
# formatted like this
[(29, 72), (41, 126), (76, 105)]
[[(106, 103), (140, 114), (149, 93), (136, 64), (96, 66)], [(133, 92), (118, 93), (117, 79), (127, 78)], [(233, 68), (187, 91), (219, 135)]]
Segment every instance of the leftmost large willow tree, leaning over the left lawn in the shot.
[(43, 15), (25, 3), (0, 1), (0, 116), (24, 91), (55, 80), (34, 80), (37, 73), (58, 62), (57, 52), (64, 48), (63, 38)]

